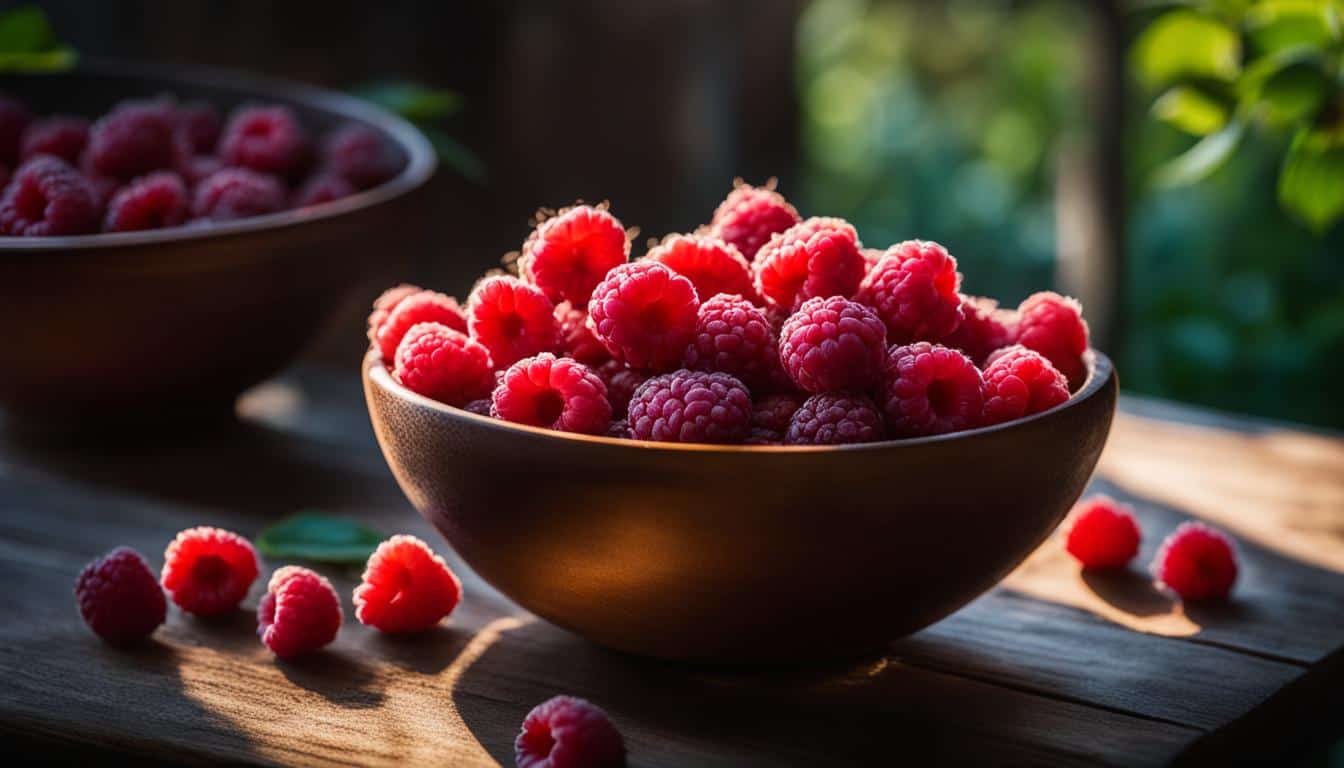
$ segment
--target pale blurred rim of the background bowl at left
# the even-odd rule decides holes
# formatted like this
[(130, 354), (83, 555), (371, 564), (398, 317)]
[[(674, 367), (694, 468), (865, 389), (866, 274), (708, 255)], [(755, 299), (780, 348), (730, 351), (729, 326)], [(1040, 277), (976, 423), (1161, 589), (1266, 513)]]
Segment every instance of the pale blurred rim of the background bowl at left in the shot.
[(406, 152), (406, 165), (402, 171), (376, 187), (355, 192), (339, 200), (319, 203), (304, 208), (290, 208), (274, 214), (263, 214), (230, 222), (183, 225), (159, 230), (130, 233), (94, 233), (60, 237), (4, 237), (0, 235), (0, 254), (51, 252), (51, 250), (97, 250), (125, 246), (153, 245), (165, 242), (202, 241), (262, 230), (282, 230), (310, 222), (336, 218), (352, 211), (370, 208), (399, 198), (423, 184), (438, 165), (433, 145), (418, 128), (407, 120), (379, 106), (325, 87), (298, 83), (288, 79), (257, 75), (237, 70), (210, 67), (173, 66), (171, 69), (153, 65), (122, 62), (116, 59), (81, 59), (70, 70), (59, 73), (13, 73), (5, 78), (56, 78), (69, 75), (129, 77), (164, 82), (168, 89), (190, 89), (196, 86), (218, 87), (243, 94), (243, 101), (277, 101), (282, 104), (302, 104), (310, 109), (327, 112), (337, 117), (359, 120), (376, 126), (391, 136)]

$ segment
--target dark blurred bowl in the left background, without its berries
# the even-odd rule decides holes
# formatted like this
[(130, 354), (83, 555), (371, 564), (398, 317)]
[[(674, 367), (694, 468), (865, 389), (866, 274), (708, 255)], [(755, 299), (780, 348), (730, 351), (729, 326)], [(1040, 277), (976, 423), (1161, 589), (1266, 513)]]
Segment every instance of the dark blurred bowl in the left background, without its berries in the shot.
[(164, 93), (220, 110), (284, 104), (314, 136), (360, 122), (406, 160), (384, 184), (297, 211), (144, 233), (0, 237), (0, 405), (11, 418), (230, 405), (294, 358), (380, 254), (418, 235), (411, 192), (434, 172), (433, 148), (409, 122), (356, 98), (109, 63), (3, 75), (0, 91), (39, 114), (94, 116)]

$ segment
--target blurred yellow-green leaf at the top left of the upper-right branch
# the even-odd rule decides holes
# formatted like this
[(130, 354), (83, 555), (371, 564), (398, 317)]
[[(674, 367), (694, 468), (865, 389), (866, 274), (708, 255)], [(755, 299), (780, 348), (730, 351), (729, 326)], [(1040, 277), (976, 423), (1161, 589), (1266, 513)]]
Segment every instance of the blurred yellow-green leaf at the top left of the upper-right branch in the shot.
[(1188, 78), (1231, 82), (1241, 71), (1242, 42), (1216, 19), (1171, 11), (1144, 30), (1130, 55), (1138, 78), (1149, 87)]

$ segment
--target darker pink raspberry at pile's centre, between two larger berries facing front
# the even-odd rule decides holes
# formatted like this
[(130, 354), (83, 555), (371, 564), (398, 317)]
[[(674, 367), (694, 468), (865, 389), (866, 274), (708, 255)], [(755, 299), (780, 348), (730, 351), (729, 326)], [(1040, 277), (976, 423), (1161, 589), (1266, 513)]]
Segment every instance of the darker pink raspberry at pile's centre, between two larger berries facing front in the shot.
[(763, 391), (780, 374), (780, 346), (765, 312), (741, 296), (720, 293), (700, 304), (695, 336), (681, 356), (694, 371), (731, 374)]

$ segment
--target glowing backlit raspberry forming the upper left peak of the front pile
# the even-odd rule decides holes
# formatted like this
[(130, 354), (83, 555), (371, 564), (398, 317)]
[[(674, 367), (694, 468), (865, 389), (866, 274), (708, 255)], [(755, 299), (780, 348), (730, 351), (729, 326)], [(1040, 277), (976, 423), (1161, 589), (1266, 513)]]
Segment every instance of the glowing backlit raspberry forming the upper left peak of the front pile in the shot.
[(552, 301), (586, 307), (593, 288), (630, 258), (625, 227), (605, 208), (574, 206), (539, 223), (519, 257), (523, 280)]

